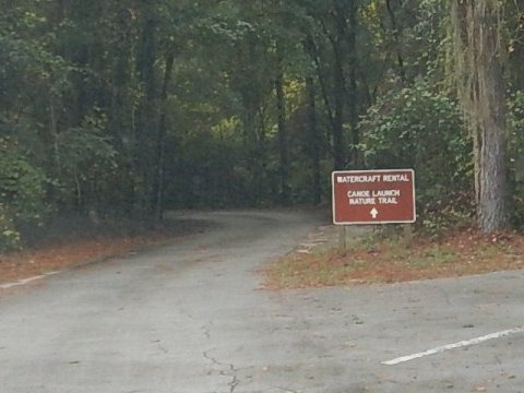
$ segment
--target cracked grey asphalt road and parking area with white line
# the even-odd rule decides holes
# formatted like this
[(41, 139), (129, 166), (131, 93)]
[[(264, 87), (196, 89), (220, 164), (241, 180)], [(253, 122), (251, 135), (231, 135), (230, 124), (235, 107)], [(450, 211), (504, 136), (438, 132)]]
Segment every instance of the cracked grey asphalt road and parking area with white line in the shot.
[(318, 217), (191, 217), (217, 225), (0, 289), (0, 392), (524, 392), (523, 272), (271, 293)]

